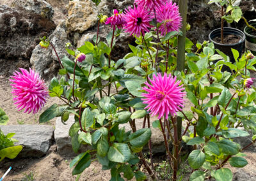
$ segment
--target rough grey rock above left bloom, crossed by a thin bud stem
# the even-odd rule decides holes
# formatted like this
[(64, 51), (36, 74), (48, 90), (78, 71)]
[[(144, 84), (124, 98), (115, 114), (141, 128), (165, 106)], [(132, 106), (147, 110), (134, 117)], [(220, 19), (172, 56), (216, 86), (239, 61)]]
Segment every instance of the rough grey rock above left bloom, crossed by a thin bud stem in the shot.
[[(49, 40), (55, 47), (60, 59), (64, 55), (68, 55), (65, 50), (65, 44), (70, 43), (67, 40), (65, 21), (62, 21), (55, 31), (49, 36)], [(51, 78), (58, 73), (60, 69), (60, 63), (58, 62), (58, 57), (56, 56), (54, 49), (51, 45), (45, 49), (37, 45), (32, 52), (30, 63), (32, 68), (34, 68), (45, 80), (51, 80)]]

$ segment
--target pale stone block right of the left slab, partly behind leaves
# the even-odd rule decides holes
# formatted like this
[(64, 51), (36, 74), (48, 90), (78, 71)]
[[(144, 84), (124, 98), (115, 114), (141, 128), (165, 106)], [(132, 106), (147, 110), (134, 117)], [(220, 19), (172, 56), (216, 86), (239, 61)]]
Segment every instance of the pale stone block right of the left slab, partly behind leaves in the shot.
[[(61, 156), (70, 156), (70, 157), (77, 156), (77, 154), (72, 149), (71, 138), (68, 135), (68, 131), (72, 126), (72, 124), (74, 124), (74, 122), (75, 122), (74, 117), (71, 117), (71, 116), (69, 117), (67, 122), (65, 122), (65, 124), (67, 125), (61, 122), (60, 117), (56, 119), (56, 129), (54, 130), (54, 138), (56, 141), (58, 154), (60, 154)], [(90, 148), (89, 145), (81, 145), (79, 153), (85, 152), (89, 148)]]

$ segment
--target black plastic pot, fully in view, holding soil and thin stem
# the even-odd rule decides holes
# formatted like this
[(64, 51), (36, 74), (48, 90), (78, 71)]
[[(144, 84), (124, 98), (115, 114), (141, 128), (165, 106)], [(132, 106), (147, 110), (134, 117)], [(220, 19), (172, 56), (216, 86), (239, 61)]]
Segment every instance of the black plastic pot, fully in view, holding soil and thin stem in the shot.
[(239, 29), (236, 28), (232, 28), (232, 27), (224, 27), (224, 37), (228, 36), (230, 34), (234, 34), (236, 36), (239, 36), (241, 38), (241, 40), (239, 40), (238, 43), (234, 43), (234, 44), (222, 44), (222, 43), (218, 43), (216, 41), (214, 41), (214, 38), (216, 37), (220, 37), (221, 36), (221, 29), (214, 29), (214, 31), (212, 31), (209, 34), (209, 40), (212, 41), (212, 43), (214, 43), (214, 47), (215, 49), (219, 49), (221, 50), (221, 52), (223, 52), (224, 54), (228, 55), (228, 57), (230, 57), (230, 62), (235, 62), (235, 59), (233, 57), (231, 48), (236, 49), (239, 52), (239, 55), (242, 55), (243, 52), (243, 47), (244, 47), (244, 41), (245, 41), (245, 34), (243, 33), (243, 31), (240, 31)]

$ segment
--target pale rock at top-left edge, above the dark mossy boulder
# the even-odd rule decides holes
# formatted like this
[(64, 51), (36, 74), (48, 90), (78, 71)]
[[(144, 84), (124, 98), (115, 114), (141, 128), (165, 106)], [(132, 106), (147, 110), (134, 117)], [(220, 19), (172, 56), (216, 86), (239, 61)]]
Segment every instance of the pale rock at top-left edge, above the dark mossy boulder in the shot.
[(54, 14), (51, 4), (44, 0), (15, 0), (13, 1), (12, 6), (17, 9), (41, 15), (49, 20), (52, 19), (52, 15)]

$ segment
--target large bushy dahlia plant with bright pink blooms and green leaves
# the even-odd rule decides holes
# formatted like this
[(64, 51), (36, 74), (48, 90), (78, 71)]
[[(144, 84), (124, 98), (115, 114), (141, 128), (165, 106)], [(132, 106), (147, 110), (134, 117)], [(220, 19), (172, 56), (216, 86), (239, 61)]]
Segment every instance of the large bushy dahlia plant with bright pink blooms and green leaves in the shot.
[[(256, 70), (255, 57), (246, 53), (238, 59), (238, 52), (232, 50), (236, 60), (232, 64), (207, 41), (196, 43), (197, 50), (193, 51), (193, 43), (187, 38), (186, 69), (177, 71), (177, 36), (182, 36), (177, 5), (166, 0), (134, 3), (124, 13), (114, 10), (108, 19), (99, 15), (93, 42), (86, 41), (76, 50), (67, 48), (72, 59), (61, 59), (62, 77), (52, 78), (49, 85), (49, 96), (60, 98), (63, 105), (47, 108), (39, 121), (61, 117), (65, 123), (74, 116), (69, 130), (72, 148), (76, 153), (80, 153), (81, 145), (90, 148), (70, 163), (73, 175), (80, 175), (97, 160), (103, 170), (111, 170), (111, 180), (162, 179), (153, 160), (153, 126), (163, 134), (172, 180), (183, 177), (178, 170), (182, 142), (194, 148), (188, 156), (193, 170), (189, 180), (224, 180), (223, 174), (226, 180), (232, 180), (232, 172), (223, 166), (227, 162), (245, 166), (247, 162), (239, 152), (255, 142), (253, 136), (252, 143), (241, 148), (233, 141), (248, 136), (248, 130), (253, 134), (256, 131), (256, 93), (249, 71)], [(104, 22), (112, 29), (106, 42), (99, 36), (99, 25)], [(134, 36), (137, 45), (129, 45), (131, 52), (113, 61), (116, 37), (124, 32)], [(54, 48), (51, 42), (49, 45)], [(230, 72), (221, 72), (224, 65)], [(29, 81), (35, 90), (29, 89)], [(43, 106), (47, 91), (36, 73), (22, 70), (13, 75), (12, 82), (19, 108), (35, 113)], [(193, 104), (191, 108), (184, 104), (186, 99)], [(184, 107), (189, 110), (184, 111)], [(177, 116), (184, 122), (182, 133)], [(153, 124), (150, 119), (154, 119)], [(131, 131), (125, 129), (127, 124)], [(147, 144), (149, 163), (143, 155)]]

